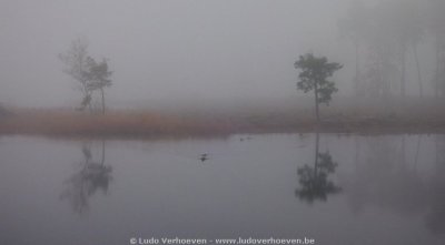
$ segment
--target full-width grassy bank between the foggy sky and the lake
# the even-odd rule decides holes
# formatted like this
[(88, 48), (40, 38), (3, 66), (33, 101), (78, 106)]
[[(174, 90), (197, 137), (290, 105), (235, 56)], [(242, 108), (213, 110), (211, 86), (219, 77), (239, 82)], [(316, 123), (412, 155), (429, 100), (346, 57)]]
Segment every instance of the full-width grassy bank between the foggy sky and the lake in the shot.
[(317, 126), (310, 108), (244, 108), (200, 111), (108, 111), (105, 115), (72, 110), (12, 110), (0, 118), (0, 135), (53, 136), (211, 136), (233, 133), (445, 133), (445, 112), (436, 102), (392, 106), (333, 104)]

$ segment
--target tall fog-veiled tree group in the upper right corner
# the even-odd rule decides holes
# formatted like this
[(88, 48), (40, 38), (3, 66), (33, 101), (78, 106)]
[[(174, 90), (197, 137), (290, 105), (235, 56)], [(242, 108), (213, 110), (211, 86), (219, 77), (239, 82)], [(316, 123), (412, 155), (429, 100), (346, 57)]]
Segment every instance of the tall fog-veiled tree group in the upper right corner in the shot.
[[(445, 1), (392, 0), (369, 7), (352, 1), (339, 31), (354, 44), (354, 88), (359, 96), (388, 96), (407, 93), (406, 62), (413, 58), (418, 96), (425, 85), (435, 96), (445, 96)], [(418, 45), (427, 37), (434, 39), (435, 71), (429, 84), (422, 74)]]

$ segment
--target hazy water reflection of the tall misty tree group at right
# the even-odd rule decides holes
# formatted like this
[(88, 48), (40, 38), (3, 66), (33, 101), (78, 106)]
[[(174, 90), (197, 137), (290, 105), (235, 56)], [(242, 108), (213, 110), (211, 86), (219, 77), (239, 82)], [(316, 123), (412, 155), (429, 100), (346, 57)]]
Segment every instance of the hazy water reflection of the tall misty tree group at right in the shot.
[[(416, 143), (415, 143), (416, 142)], [(435, 164), (425, 172), (427, 161), (419, 157), (422, 136), (413, 140), (412, 147), (405, 136), (367, 139), (365, 157), (354, 173), (344, 180), (348, 201), (355, 214), (366, 207), (403, 216), (419, 216), (426, 227), (445, 234), (445, 137), (436, 136)]]

